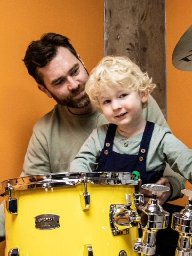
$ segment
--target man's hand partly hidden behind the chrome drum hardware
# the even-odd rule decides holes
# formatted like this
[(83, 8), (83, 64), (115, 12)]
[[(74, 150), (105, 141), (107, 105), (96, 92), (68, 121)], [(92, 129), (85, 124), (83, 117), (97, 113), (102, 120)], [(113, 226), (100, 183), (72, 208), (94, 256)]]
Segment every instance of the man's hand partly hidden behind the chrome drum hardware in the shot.
[[(161, 177), (156, 184), (158, 185), (164, 185), (169, 188), (171, 188), (171, 185), (169, 184), (169, 180), (166, 177)], [(141, 193), (144, 194), (144, 202), (145, 204), (148, 203), (149, 198), (153, 197), (151, 191), (141, 189)], [(159, 199), (159, 203), (162, 205), (164, 202), (171, 196), (171, 189), (167, 192), (159, 192), (157, 198)]]

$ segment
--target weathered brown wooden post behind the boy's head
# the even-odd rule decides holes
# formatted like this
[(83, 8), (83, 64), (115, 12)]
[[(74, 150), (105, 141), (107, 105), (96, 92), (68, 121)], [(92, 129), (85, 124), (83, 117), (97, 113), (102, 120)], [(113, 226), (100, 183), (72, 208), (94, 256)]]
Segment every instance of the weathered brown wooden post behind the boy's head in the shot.
[(104, 54), (126, 55), (153, 78), (166, 117), (165, 0), (104, 0)]

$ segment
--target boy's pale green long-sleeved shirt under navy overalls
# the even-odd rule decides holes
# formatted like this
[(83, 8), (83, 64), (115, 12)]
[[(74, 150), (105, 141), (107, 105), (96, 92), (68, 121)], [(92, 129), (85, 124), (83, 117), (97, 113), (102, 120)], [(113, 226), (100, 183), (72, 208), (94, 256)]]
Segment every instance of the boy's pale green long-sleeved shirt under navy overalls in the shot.
[[(93, 130), (71, 162), (70, 172), (96, 171), (108, 126), (109, 124), (105, 124)], [(116, 130), (113, 151), (138, 155), (142, 136), (143, 132), (127, 139)], [(168, 128), (155, 124), (146, 158), (146, 171), (160, 171), (165, 168), (166, 163), (192, 183), (192, 150), (178, 140)]]

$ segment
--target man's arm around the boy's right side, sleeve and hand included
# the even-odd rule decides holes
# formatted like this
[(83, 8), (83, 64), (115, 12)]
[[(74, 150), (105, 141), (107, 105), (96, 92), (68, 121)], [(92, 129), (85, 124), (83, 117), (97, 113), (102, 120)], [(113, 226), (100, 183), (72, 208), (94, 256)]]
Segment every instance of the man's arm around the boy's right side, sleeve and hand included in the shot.
[[(150, 95), (149, 102), (147, 108), (143, 109), (143, 117), (147, 121), (154, 122), (162, 127), (168, 127), (168, 124), (164, 118), (161, 109), (159, 108), (156, 101)], [(157, 184), (166, 185), (171, 188), (170, 192), (159, 193), (159, 199), (161, 203), (164, 203), (167, 200), (175, 200), (177, 198), (182, 197), (181, 190), (185, 189), (186, 179), (180, 174), (171, 170), (168, 166), (165, 168), (164, 177), (158, 180)], [(146, 196), (145, 200), (148, 200), (148, 197), (151, 197), (150, 191), (143, 190), (142, 191)], [(171, 193), (171, 195), (170, 195)], [(148, 201), (147, 201), (148, 202)]]

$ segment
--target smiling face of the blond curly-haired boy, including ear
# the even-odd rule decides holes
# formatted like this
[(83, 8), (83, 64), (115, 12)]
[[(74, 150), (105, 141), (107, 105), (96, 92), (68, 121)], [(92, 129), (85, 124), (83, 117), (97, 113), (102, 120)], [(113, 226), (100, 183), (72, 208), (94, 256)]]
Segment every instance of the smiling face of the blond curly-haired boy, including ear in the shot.
[(98, 97), (103, 114), (112, 124), (120, 127), (138, 125), (143, 119), (142, 103), (148, 99), (148, 91), (141, 93), (127, 88), (106, 89)]

